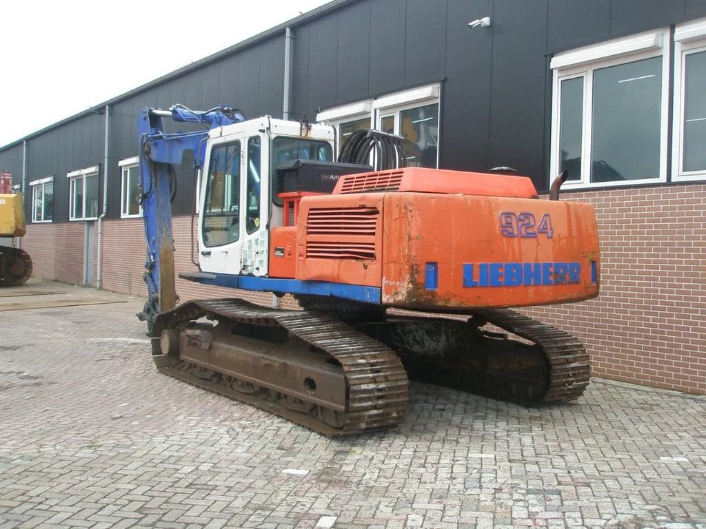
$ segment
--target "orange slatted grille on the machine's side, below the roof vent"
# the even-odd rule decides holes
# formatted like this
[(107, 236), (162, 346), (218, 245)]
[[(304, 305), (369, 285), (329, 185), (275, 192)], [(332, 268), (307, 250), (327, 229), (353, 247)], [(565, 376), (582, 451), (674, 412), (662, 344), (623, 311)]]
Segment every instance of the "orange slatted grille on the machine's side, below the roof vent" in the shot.
[(375, 207), (309, 209), (306, 257), (375, 260), (375, 233), (380, 212)]

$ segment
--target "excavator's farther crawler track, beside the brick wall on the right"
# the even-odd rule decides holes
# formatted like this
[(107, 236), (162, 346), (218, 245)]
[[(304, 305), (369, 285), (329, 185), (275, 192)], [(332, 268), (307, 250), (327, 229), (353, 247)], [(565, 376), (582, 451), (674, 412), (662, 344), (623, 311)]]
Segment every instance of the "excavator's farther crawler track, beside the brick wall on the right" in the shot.
[[(488, 323), (503, 333), (485, 330)], [(572, 401), (590, 379), (589, 355), (578, 339), (514, 310), (477, 311), (466, 321), (390, 317), (357, 329), (397, 351), (411, 379), (499, 401), (523, 406)]]

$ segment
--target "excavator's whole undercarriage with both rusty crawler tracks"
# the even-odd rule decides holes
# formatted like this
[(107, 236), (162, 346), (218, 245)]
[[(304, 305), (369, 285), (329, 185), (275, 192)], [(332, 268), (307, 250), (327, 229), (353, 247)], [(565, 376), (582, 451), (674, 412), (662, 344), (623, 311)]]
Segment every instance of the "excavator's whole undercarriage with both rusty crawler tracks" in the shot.
[[(322, 312), (316, 300), (307, 303), (314, 308), (184, 303), (155, 319), (155, 364), (330, 437), (399, 425), (408, 375), (525, 406), (577, 399), (588, 384), (588, 355), (578, 340), (513, 310), (464, 321), (385, 317), (346, 304)], [(484, 330), (486, 322), (523, 341)]]

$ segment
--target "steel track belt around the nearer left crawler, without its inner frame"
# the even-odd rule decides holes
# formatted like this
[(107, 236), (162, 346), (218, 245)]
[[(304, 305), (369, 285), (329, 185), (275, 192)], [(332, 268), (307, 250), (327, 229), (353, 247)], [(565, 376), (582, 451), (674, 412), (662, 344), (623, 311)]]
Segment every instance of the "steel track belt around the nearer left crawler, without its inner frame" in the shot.
[[(163, 353), (164, 345), (161, 342), (164, 339), (159, 339), (163, 332), (187, 329), (189, 322), (204, 316), (217, 320), (217, 325), (280, 327), (286, 329), (289, 336), (304, 341), (318, 354), (323, 353), (328, 369), (335, 365), (345, 377), (345, 395), (337, 395), (337, 400), (345, 401), (345, 408), (341, 410), (341, 406), (337, 407), (333, 402), (327, 405), (321, 399), (312, 398), (306, 402), (301, 398), (301, 393), (287, 395), (273, 389), (266, 379), (253, 382), (252, 377), (234, 376), (232, 370), (224, 374), (208, 369), (209, 366), (204, 363), (196, 365), (184, 360), (179, 353)], [(188, 334), (189, 331), (184, 332)], [(192, 341), (198, 341), (199, 332), (198, 329), (193, 330)], [(210, 332), (205, 334), (210, 336)], [(239, 299), (192, 301), (157, 315), (152, 326), (152, 338), (155, 364), (165, 374), (275, 413), (330, 437), (393, 427), (400, 424), (407, 413), (407, 373), (395, 352), (322, 312), (275, 310)], [(210, 344), (210, 338), (206, 339)], [(249, 339), (241, 339), (241, 342), (249, 343)], [(185, 343), (184, 339), (181, 343)], [(286, 364), (286, 360), (282, 363)], [(282, 372), (287, 375), (296, 367), (283, 365)]]

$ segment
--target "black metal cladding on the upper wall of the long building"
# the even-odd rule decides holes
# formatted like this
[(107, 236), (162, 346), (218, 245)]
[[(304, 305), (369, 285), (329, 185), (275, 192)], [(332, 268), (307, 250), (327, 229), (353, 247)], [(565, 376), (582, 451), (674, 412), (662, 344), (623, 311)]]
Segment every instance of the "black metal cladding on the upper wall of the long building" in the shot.
[[(467, 28), (483, 16), (491, 28)], [(441, 82), (440, 165), (513, 166), (545, 190), (551, 54), (702, 16), (706, 0), (350, 1), (294, 27), (291, 116)], [(109, 217), (120, 216), (118, 161), (137, 154), (138, 111), (181, 102), (281, 116), (284, 42), (282, 31), (112, 104)], [(28, 181), (54, 174), (55, 221), (68, 219), (66, 173), (102, 164), (103, 140), (98, 114), (29, 138)], [(20, 181), (21, 142), (0, 150), (0, 171)], [(193, 209), (193, 174), (180, 181), (174, 214)]]

